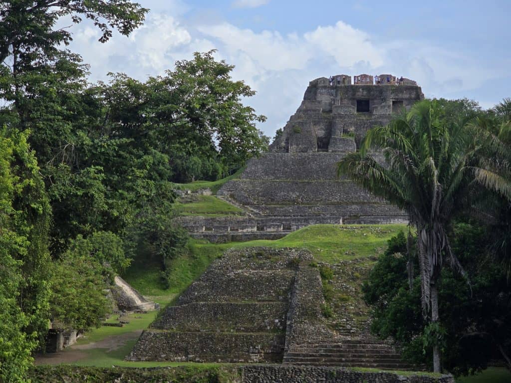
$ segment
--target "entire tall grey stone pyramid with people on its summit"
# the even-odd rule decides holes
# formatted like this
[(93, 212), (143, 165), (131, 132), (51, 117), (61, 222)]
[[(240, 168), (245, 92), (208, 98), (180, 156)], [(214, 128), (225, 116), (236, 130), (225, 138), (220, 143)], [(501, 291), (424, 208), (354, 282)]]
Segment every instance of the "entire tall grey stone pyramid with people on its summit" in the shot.
[(251, 159), (219, 198), (245, 216), (181, 217), (193, 236), (212, 242), (275, 239), (312, 224), (381, 224), (407, 221), (403, 211), (346, 179), (337, 162), (354, 152), (365, 132), (422, 100), (414, 81), (391, 75), (338, 75), (309, 83), (304, 100), (270, 147)]

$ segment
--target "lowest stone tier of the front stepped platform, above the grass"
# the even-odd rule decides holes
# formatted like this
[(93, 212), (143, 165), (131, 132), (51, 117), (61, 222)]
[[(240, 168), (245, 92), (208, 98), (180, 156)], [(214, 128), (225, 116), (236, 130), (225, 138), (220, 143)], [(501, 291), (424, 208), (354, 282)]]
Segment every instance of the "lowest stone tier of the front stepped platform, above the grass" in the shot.
[(283, 333), (170, 332), (145, 330), (128, 361), (279, 362)]

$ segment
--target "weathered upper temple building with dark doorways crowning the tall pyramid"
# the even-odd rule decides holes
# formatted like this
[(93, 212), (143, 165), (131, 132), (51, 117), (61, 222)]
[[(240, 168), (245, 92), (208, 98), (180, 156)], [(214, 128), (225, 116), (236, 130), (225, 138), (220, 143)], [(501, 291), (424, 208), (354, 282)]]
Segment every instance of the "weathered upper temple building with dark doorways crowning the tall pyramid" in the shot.
[[(353, 146), (340, 138), (353, 135), (358, 145), (367, 129), (388, 123), (392, 113), (400, 111), (397, 109), (409, 109), (423, 98), (421, 88), (411, 81), (383, 86), (330, 85), (326, 78), (313, 80), (271, 149), (285, 153), (353, 151)], [(368, 102), (366, 112), (357, 111), (358, 101)]]

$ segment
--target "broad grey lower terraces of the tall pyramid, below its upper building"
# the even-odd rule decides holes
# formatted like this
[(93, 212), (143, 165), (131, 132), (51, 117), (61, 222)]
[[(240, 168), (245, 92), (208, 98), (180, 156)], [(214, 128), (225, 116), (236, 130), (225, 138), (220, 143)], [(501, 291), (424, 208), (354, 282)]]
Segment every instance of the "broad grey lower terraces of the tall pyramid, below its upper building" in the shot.
[(314, 224), (406, 222), (405, 213), (337, 177), (345, 153), (265, 153), (251, 159), (240, 179), (217, 193), (240, 206), (241, 215), (183, 216), (192, 236), (211, 242), (278, 239)]

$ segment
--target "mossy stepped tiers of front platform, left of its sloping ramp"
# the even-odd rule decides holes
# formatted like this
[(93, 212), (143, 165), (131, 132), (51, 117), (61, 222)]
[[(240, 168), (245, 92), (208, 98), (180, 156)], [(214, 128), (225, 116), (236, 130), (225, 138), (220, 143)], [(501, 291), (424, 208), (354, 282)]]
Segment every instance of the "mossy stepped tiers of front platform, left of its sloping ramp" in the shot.
[(281, 363), (303, 256), (310, 262), (300, 250), (228, 250), (142, 333), (127, 360)]

